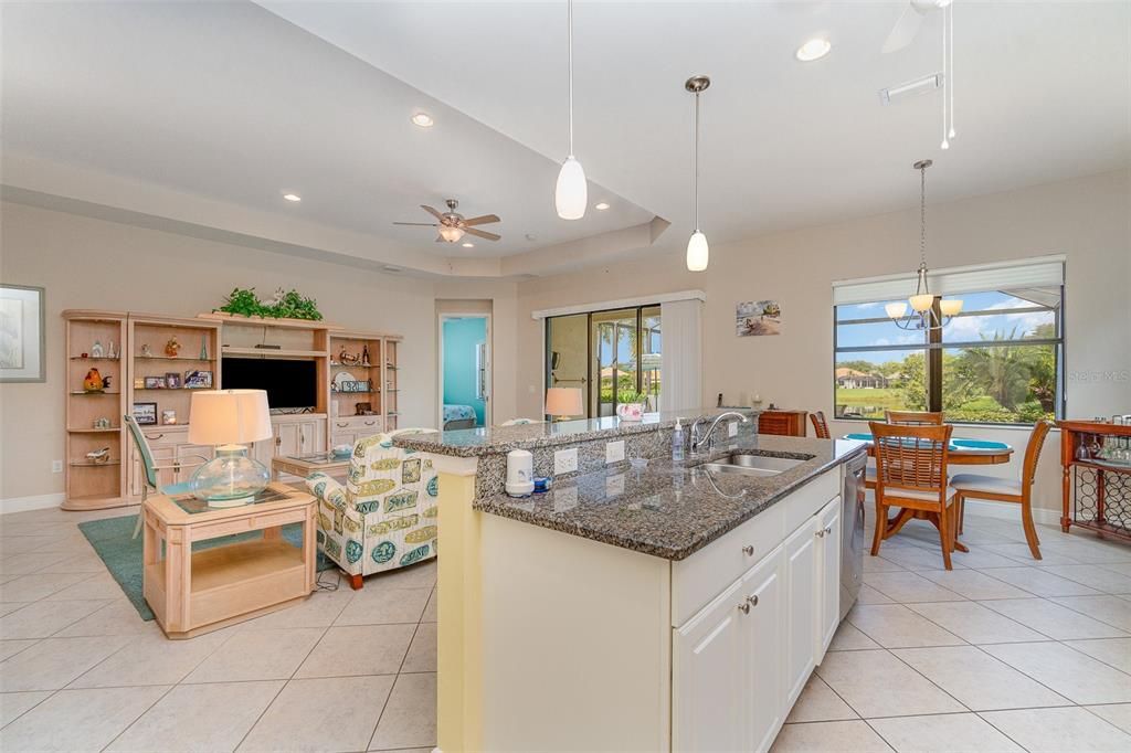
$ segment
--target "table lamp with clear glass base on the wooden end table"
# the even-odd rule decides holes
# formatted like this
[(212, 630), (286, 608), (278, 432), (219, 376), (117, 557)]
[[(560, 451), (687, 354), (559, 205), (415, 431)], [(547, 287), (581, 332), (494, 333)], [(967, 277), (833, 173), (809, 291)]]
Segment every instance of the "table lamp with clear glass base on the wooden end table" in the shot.
[(267, 486), (270, 473), (248, 455), (248, 445), (270, 436), (266, 390), (193, 392), (189, 441), (216, 448), (216, 457), (192, 474), (189, 484), (193, 495), (210, 508), (251, 502)]

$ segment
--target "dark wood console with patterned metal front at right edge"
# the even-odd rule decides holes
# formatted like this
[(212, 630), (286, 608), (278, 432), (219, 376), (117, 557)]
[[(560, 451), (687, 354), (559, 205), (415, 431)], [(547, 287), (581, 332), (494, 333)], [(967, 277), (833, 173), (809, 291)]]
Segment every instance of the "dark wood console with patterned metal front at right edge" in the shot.
[(1077, 525), (1131, 542), (1131, 465), (1096, 453), (1105, 445), (1131, 443), (1131, 426), (1098, 421), (1059, 421), (1056, 425), (1063, 467), (1061, 530)]

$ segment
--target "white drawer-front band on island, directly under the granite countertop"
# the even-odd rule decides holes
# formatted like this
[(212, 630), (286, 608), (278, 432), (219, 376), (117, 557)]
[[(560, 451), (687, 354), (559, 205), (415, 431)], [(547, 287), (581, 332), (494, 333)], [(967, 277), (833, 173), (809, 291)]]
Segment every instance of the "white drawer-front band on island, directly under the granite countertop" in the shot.
[(840, 471), (828, 470), (734, 530), (672, 563), (672, 626), (718, 596), (839, 492)]

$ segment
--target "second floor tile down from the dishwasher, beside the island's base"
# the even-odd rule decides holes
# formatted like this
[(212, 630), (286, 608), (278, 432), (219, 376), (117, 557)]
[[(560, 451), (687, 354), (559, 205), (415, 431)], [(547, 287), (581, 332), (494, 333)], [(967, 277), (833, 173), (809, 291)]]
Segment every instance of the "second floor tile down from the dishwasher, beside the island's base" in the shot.
[(828, 654), (817, 672), (865, 718), (965, 711), (955, 699), (888, 651)]

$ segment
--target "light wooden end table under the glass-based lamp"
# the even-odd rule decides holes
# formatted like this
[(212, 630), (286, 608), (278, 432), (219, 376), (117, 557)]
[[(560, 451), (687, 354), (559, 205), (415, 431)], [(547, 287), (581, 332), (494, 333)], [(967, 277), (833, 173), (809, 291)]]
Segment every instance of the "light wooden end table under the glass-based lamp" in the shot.
[[(280, 609), (314, 589), (314, 497), (274, 483), (239, 508), (154, 495), (141, 509), (144, 594), (165, 635), (192, 638)], [(302, 548), (282, 527), (302, 523)], [(193, 542), (261, 530), (252, 538), (192, 551)], [(164, 556), (162, 556), (164, 542)]]

